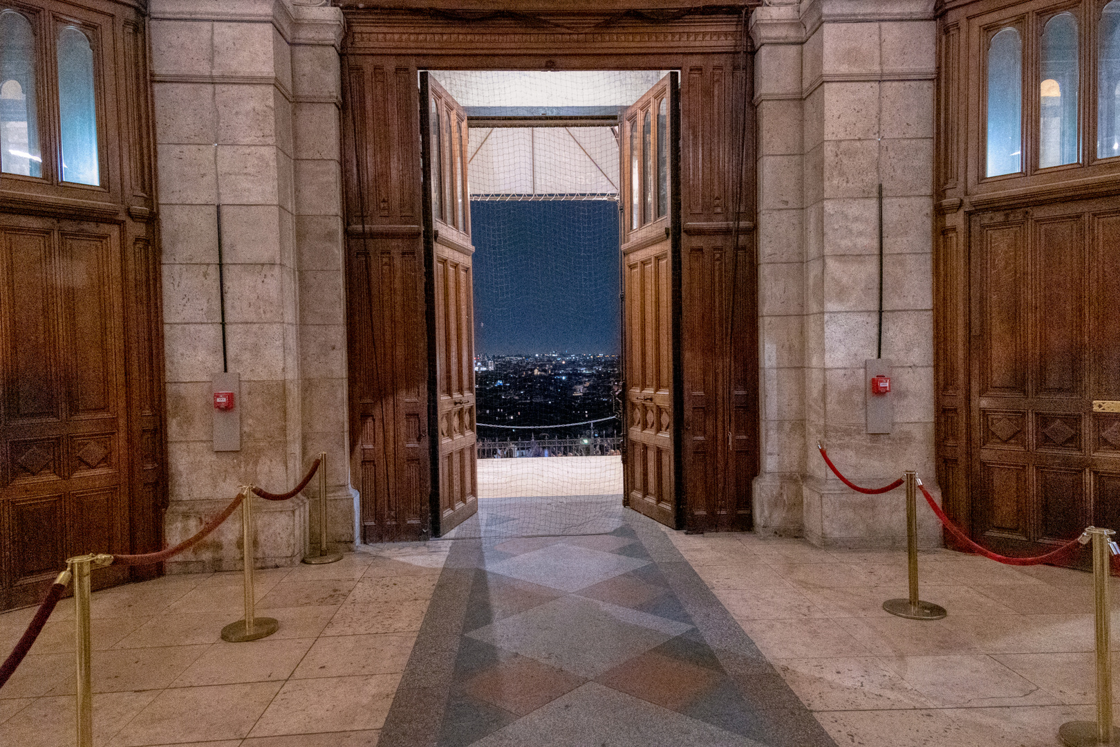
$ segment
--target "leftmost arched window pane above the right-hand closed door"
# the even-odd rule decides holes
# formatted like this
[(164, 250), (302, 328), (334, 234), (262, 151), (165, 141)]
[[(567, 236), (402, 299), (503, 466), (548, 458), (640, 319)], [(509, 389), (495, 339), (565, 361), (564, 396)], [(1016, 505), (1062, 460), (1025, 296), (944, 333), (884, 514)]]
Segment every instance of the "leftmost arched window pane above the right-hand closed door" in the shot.
[(1023, 167), (1023, 39), (1005, 28), (988, 48), (988, 176)]

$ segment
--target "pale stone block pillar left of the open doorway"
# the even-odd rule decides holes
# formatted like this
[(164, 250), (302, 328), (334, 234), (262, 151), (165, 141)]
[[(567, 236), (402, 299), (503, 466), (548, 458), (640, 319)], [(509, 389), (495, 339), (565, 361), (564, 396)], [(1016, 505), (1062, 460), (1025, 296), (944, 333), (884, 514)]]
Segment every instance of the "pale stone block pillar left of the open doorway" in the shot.
[[(152, 0), (150, 8), (169, 424), (165, 527), (174, 543), (225, 505), (240, 483), (288, 489), (320, 449), (337, 455), (335, 493), (348, 482), (345, 398), (321, 394), (330, 380), (345, 391), (343, 344), (315, 347), (329, 334), (319, 327), (342, 324), (342, 17), (281, 0)], [(321, 58), (318, 49), (326, 50)], [(323, 72), (309, 72), (318, 65)], [(305, 180), (299, 187), (297, 174)], [(223, 367), (218, 203), (228, 371), (241, 374), (242, 448), (226, 452), (211, 442), (209, 382)], [(300, 223), (311, 216), (326, 227)], [(316, 274), (330, 267), (338, 276), (334, 293)], [(335, 330), (330, 339), (344, 335)], [(307, 498), (263, 504), (256, 516), (259, 564), (298, 562), (307, 551)], [(340, 534), (352, 538), (353, 530)], [(240, 567), (236, 522), (212, 538), (168, 570)]]

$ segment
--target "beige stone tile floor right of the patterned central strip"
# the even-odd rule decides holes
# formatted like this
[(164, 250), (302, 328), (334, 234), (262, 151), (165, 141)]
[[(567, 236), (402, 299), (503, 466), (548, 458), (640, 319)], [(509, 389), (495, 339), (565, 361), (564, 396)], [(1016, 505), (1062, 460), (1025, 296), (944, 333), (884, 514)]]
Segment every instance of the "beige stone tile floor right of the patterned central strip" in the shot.
[[(917, 622), (880, 607), (906, 596), (904, 552), (670, 536), (838, 745), (1051, 747), (1094, 718), (1090, 573), (922, 552), (921, 597), (949, 616)], [(1116, 638), (1116, 579), (1112, 599)]]

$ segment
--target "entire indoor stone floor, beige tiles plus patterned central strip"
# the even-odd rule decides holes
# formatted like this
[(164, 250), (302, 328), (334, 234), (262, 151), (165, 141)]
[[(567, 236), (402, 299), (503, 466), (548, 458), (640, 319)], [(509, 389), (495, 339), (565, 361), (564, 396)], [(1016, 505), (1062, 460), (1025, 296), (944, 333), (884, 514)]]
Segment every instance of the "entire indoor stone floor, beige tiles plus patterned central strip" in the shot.
[[(166, 577), (94, 595), (95, 743), (808, 747), (819, 722), (840, 746), (1051, 747), (1092, 718), (1090, 575), (950, 551), (921, 567), (944, 620), (880, 609), (905, 595), (902, 552), (627, 512), (614, 534), (262, 571), (281, 629), (246, 644), (218, 638), (240, 573)], [(0, 615), (0, 652), (31, 611)], [(72, 619), (67, 600), (0, 690), (0, 745), (72, 744)]]

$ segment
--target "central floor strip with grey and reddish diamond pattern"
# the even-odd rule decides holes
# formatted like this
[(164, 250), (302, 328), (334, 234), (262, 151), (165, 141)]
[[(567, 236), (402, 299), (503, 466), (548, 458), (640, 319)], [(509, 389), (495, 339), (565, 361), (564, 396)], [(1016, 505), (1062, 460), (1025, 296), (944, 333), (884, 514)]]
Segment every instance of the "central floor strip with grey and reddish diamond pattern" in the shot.
[(834, 745), (634, 512), (609, 534), (454, 543), (380, 747), (419, 744)]

